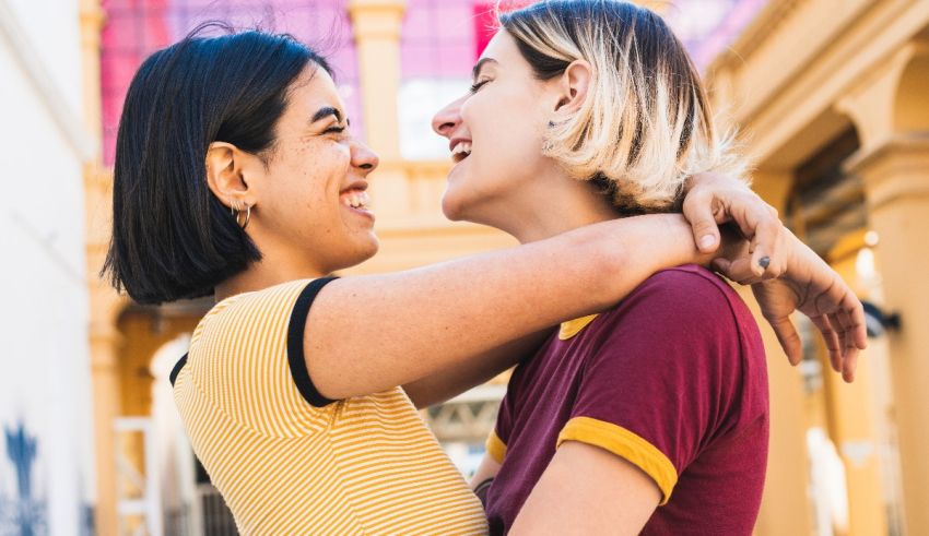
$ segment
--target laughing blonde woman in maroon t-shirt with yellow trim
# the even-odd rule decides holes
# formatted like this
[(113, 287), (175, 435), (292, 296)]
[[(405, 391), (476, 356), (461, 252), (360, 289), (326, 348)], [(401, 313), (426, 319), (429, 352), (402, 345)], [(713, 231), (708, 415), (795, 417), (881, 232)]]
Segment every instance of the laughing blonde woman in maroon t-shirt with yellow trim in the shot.
[[(443, 201), (450, 218), (529, 243), (677, 212), (695, 174), (742, 175), (686, 51), (650, 11), (551, 0), (499, 20), (471, 93), (433, 121), (457, 163)], [(823, 265), (809, 250), (795, 252)], [(798, 306), (837, 365), (842, 345), (858, 344), (854, 322), (845, 312), (830, 318), (784, 281), (753, 289), (764, 298), (785, 285), (792, 298), (766, 310), (781, 341), (799, 350), (786, 309), (777, 310)], [(854, 301), (844, 296), (847, 307)], [(473, 486), (492, 534), (748, 535), (767, 434), (752, 315), (715, 274), (677, 267), (600, 314), (563, 322), (519, 365)]]

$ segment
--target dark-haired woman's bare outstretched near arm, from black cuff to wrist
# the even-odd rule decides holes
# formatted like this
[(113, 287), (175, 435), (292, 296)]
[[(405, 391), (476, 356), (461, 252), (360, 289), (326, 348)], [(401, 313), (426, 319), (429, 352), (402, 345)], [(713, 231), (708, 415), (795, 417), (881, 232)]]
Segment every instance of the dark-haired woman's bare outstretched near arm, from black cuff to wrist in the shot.
[(509, 250), (337, 281), (308, 319), (306, 356), (329, 397), (408, 384), (572, 318), (656, 271), (697, 261), (682, 217), (591, 225)]

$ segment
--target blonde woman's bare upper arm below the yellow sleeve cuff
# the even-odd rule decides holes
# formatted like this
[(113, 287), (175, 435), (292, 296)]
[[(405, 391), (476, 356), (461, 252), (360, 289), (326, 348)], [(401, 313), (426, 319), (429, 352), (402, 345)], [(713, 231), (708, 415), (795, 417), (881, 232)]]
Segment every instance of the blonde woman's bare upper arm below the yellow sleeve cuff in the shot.
[(509, 534), (635, 535), (660, 500), (655, 480), (635, 465), (568, 441), (532, 488)]

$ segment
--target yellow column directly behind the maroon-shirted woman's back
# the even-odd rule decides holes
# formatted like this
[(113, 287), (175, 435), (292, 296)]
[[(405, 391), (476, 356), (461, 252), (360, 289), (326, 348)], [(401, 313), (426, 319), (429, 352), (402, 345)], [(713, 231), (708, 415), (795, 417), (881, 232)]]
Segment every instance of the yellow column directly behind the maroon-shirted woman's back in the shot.
[[(752, 189), (768, 204), (785, 212), (793, 183), (788, 171), (754, 174)], [(803, 382), (799, 369), (791, 367), (771, 325), (761, 315), (750, 287), (737, 287), (757, 319), (767, 354), (771, 392), (771, 442), (764, 496), (755, 524), (757, 536), (810, 534), (812, 510), (807, 497), (807, 417), (803, 410)]]

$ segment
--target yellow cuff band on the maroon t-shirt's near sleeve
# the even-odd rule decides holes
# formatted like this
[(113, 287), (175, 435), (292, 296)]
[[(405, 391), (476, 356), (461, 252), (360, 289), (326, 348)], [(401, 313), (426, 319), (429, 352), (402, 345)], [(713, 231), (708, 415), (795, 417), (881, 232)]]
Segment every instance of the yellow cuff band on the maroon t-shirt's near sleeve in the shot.
[(661, 504), (671, 499), (678, 484), (678, 471), (668, 456), (634, 432), (612, 422), (590, 417), (575, 417), (558, 433), (555, 448), (565, 441), (592, 444), (626, 460), (650, 476), (661, 490)]

